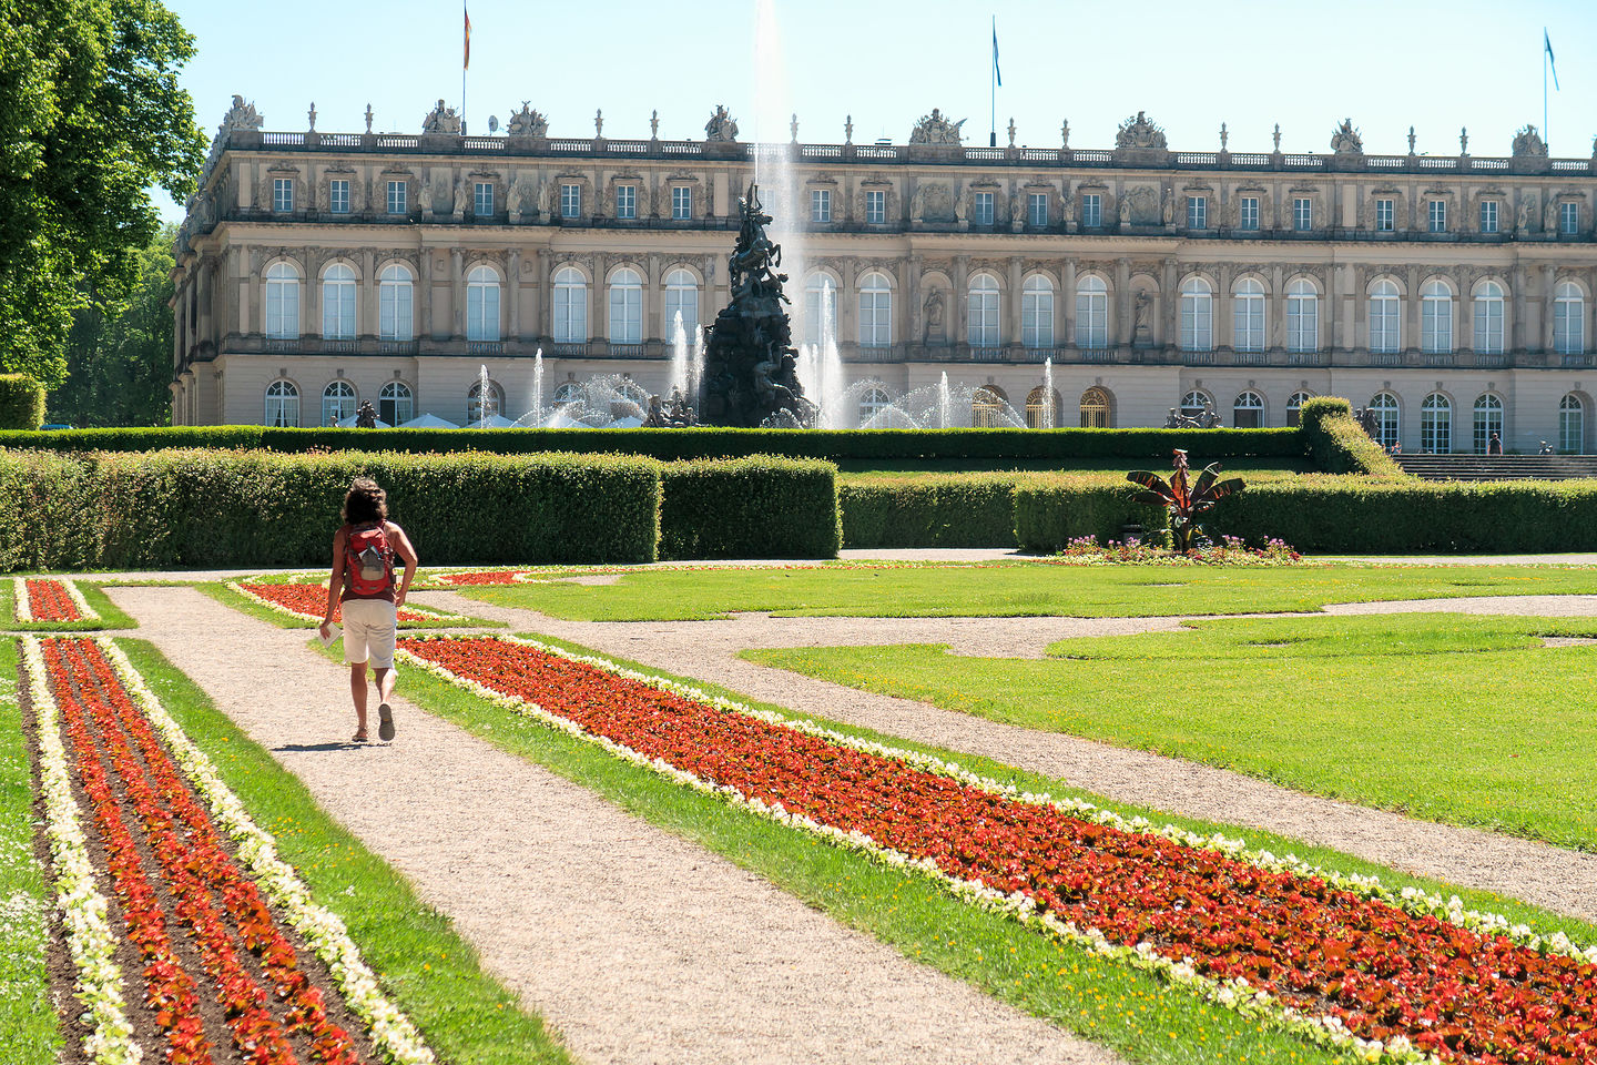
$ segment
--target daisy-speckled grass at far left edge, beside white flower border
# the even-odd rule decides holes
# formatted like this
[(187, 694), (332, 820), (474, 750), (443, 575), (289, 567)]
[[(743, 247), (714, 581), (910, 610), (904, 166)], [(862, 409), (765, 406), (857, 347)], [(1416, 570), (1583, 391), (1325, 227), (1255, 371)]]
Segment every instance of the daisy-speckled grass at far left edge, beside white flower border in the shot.
[(45, 968), (53, 891), (34, 856), (16, 658), (16, 640), (0, 640), (0, 1057), (6, 1065), (50, 1065), (62, 1047)]

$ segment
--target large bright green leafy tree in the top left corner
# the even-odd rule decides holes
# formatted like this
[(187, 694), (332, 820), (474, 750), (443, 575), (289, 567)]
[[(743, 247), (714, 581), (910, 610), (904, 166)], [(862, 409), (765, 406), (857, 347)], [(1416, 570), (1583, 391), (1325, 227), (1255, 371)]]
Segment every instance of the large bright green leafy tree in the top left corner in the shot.
[(193, 38), (158, 0), (0, 0), (0, 370), (56, 386), (72, 313), (115, 313), (204, 160), (177, 86)]

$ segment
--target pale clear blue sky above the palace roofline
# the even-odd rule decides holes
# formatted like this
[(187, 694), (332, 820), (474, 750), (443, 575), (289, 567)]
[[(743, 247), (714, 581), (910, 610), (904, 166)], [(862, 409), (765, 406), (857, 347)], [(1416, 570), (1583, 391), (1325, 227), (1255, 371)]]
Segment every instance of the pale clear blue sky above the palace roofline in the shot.
[[(1351, 117), (1367, 152), (1453, 155), (1469, 128), (1474, 155), (1506, 155), (1514, 129), (1541, 125), (1543, 26), (1560, 91), (1547, 97), (1554, 155), (1587, 156), (1597, 134), (1597, 3), (1338, 5), (1223, 0), (1139, 5), (1060, 0), (770, 0), (781, 61), (762, 89), (760, 139), (902, 144), (915, 118), (941, 107), (968, 118), (968, 144), (987, 144), (992, 22), (998, 19), (998, 137), (1012, 115), (1017, 144), (1113, 147), (1115, 128), (1147, 110), (1172, 148), (1214, 150), (1220, 123), (1233, 152), (1268, 152), (1281, 123), (1286, 152), (1326, 152)], [(458, 0), (380, 5), (275, 0), (268, 8), (166, 0), (195, 34), (182, 75), (200, 123), (214, 133), (233, 93), (256, 102), (267, 129), (418, 133), (442, 96), (460, 104)], [(752, 139), (755, 0), (671, 5), (658, 0), (535, 3), (471, 0), (466, 117), (487, 133), (529, 99), (551, 136), (592, 136), (604, 109), (608, 137), (701, 137), (717, 102)], [(182, 211), (158, 193), (163, 214)]]

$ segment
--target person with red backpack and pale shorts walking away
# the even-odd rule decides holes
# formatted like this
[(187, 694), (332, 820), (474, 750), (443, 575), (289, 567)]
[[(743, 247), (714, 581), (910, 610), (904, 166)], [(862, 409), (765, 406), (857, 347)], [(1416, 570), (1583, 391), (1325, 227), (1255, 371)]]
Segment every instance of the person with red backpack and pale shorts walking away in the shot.
[[(394, 556), (404, 576), (394, 584)], [(332, 536), (332, 573), (327, 578), (327, 613), (321, 637), (331, 635), (332, 615), (343, 605), (343, 661), (350, 667), (355, 699), (355, 742), (366, 742), (366, 666), (377, 682), (377, 736), (394, 738), (394, 637), (399, 607), (415, 578), (415, 548), (399, 525), (388, 521), (388, 493), (371, 477), (356, 477), (343, 497), (343, 525)]]

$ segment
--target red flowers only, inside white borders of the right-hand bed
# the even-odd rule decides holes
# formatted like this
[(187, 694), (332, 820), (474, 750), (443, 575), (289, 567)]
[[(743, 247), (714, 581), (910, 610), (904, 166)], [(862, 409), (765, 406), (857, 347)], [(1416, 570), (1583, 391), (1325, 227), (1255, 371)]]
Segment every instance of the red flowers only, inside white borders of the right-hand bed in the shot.
[(717, 709), (495, 639), (401, 640), (412, 655), (747, 798), (1024, 893), (1110, 942), (1332, 1014), (1442, 1059), (1597, 1062), (1597, 966), (1417, 917), (1326, 881), (1072, 818), (904, 762)]

